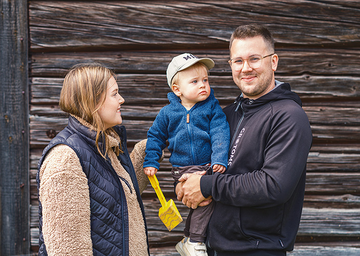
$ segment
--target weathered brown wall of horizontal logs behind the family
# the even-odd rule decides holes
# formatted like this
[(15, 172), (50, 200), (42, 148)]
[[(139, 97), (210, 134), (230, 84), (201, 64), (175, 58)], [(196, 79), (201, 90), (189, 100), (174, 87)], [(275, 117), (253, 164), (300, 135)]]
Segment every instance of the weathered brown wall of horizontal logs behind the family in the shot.
[[(313, 133), (304, 210), (289, 255), (360, 254), (360, 3), (353, 1), (29, 1), (31, 244), (37, 249), (36, 164), (67, 124), (58, 108), (63, 73), (83, 61), (114, 67), (128, 146), (144, 139), (170, 91), (165, 70), (190, 52), (215, 60), (210, 85), (222, 106), (240, 94), (227, 63), (239, 25), (268, 27), (276, 79), (303, 101)], [(168, 152), (158, 173), (174, 198)], [(184, 224), (168, 232), (151, 186), (143, 200), (152, 255), (178, 255)], [(188, 209), (177, 203), (182, 216)], [(315, 254), (316, 252), (316, 254)]]

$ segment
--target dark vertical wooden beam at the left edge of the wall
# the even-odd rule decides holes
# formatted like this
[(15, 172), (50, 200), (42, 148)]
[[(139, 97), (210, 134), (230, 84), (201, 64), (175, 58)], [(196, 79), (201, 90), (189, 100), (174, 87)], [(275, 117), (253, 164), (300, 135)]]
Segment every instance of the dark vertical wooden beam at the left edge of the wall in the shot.
[(30, 252), (28, 6), (0, 0), (0, 255)]

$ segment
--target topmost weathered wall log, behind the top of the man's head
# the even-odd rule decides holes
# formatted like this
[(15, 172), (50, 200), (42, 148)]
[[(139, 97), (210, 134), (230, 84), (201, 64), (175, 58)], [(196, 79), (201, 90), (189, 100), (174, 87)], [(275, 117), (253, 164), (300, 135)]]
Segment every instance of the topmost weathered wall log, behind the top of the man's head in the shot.
[[(101, 11), (99, 11), (101, 10)], [(284, 15), (283, 10), (286, 10)], [(300, 10), (300, 11), (299, 11)], [(316, 10), (316, 12), (313, 12)], [(166, 15), (165, 15), (166, 14)], [(191, 18), (186, 18), (191, 17)], [(278, 45), (358, 45), (360, 11), (343, 2), (31, 1), (32, 51), (226, 49), (241, 24), (264, 24)], [(224, 22), (226, 20), (226, 22)], [(45, 22), (46, 21), (46, 22)]]

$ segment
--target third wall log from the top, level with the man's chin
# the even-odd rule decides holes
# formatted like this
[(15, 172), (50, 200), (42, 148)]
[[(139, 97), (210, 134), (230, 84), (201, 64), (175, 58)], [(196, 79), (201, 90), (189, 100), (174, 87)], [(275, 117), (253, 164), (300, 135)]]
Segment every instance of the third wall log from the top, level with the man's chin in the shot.
[[(304, 100), (318, 101), (331, 98), (340, 101), (360, 97), (360, 77), (321, 77), (321, 76), (276, 76), (277, 79), (289, 82), (292, 91)], [(57, 104), (62, 87), (62, 78), (31, 79), (31, 104)], [(124, 75), (118, 74), (119, 92), (125, 104), (149, 105), (167, 104), (167, 86), (165, 75)], [(230, 103), (239, 94), (231, 76), (209, 77), (211, 88), (220, 102)]]

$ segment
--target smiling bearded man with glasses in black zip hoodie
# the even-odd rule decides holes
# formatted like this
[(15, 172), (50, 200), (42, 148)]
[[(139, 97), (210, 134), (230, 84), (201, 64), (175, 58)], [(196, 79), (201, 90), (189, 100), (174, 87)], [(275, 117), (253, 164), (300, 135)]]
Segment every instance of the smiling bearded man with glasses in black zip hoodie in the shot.
[(209, 255), (283, 256), (293, 249), (312, 135), (299, 96), (274, 79), (278, 60), (266, 28), (245, 25), (232, 33), (229, 63), (241, 95), (224, 108), (231, 133), (228, 169), (187, 175), (176, 186), (188, 207), (204, 205), (208, 197), (216, 202)]

